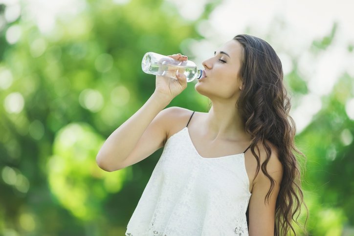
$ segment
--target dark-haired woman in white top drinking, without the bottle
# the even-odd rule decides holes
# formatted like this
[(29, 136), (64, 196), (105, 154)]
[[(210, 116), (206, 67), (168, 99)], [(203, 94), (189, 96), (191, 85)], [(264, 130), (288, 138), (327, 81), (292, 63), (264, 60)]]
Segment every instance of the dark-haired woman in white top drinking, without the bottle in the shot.
[(302, 153), (278, 56), (264, 40), (238, 35), (203, 66), (195, 89), (210, 99), (209, 112), (164, 109), (186, 77), (156, 76), (153, 95), (97, 155), (102, 169), (115, 171), (164, 147), (126, 235), (295, 233), (294, 215), (305, 203), (293, 152)]

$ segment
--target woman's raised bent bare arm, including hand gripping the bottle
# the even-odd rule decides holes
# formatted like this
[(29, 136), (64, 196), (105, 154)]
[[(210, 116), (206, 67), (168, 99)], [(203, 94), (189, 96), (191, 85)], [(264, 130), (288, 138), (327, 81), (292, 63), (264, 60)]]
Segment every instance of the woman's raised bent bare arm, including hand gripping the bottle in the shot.
[[(186, 57), (174, 54), (180, 61)], [(116, 171), (143, 160), (163, 147), (166, 123), (175, 109), (166, 107), (173, 98), (187, 87), (187, 79), (181, 74), (177, 80), (156, 76), (156, 88), (148, 101), (132, 117), (115, 129), (96, 156), (98, 166), (105, 171)]]

